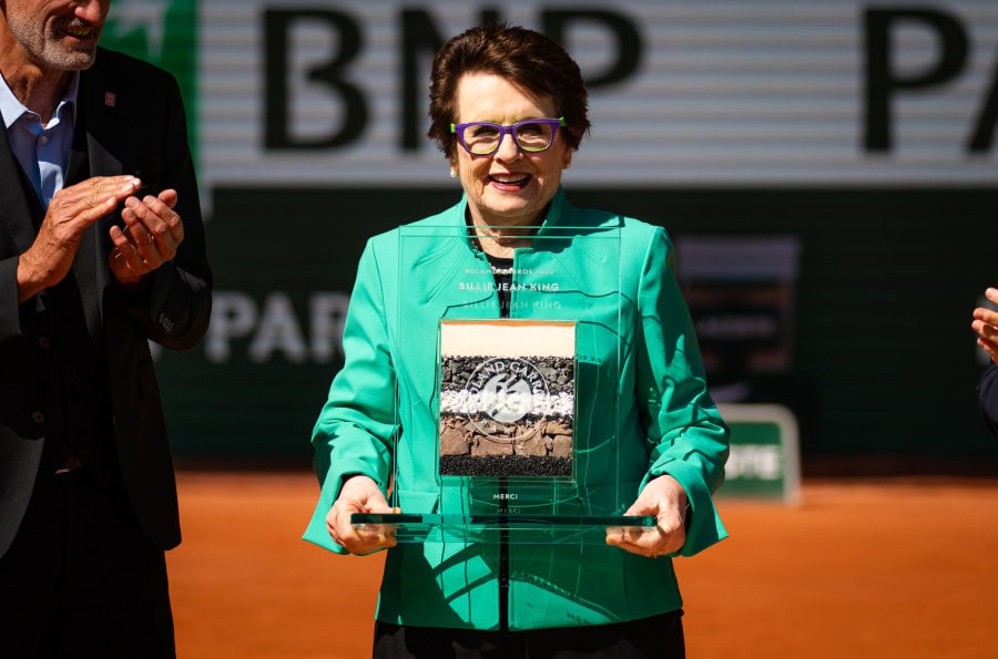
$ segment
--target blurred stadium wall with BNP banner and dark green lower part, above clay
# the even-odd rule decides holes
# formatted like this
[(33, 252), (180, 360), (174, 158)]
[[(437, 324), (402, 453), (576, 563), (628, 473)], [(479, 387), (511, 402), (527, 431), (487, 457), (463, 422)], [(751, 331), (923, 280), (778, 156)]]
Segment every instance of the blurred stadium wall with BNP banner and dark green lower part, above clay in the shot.
[(215, 305), (159, 354), (181, 464), (307, 467), (365, 240), (455, 203), (429, 62), (488, 19), (582, 66), (569, 197), (672, 236), (715, 399), (805, 475), (998, 474), (970, 311), (998, 285), (994, 0), (115, 0), (185, 95)]

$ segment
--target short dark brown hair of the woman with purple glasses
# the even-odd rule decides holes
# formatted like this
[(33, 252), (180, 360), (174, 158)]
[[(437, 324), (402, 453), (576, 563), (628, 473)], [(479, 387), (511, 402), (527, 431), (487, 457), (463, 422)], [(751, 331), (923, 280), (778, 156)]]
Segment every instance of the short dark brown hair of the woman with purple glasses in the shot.
[[(430, 73), (430, 128), (448, 158), (455, 155), (458, 81), (465, 73), (492, 73), (537, 95), (551, 96), (564, 116), (559, 132), (578, 150), (589, 131), (588, 93), (579, 65), (553, 40), (518, 25), (490, 23), (458, 34), (437, 51)], [(557, 119), (557, 117), (552, 117)]]

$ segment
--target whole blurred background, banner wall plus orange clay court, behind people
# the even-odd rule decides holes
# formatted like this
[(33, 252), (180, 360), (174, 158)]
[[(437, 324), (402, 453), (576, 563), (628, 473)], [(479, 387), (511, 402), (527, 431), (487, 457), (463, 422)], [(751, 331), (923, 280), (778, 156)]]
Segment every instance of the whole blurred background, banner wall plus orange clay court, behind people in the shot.
[(115, 0), (111, 17), (104, 45), (181, 84), (216, 275), (206, 339), (157, 356), (180, 656), (369, 656), (384, 555), (301, 539), (309, 435), (365, 240), (459, 198), (425, 137), (429, 64), (490, 19), (580, 63), (593, 128), (569, 197), (669, 230), (739, 419), (731, 538), (676, 562), (690, 656), (995, 655), (998, 437), (969, 328), (998, 286), (995, 0)]

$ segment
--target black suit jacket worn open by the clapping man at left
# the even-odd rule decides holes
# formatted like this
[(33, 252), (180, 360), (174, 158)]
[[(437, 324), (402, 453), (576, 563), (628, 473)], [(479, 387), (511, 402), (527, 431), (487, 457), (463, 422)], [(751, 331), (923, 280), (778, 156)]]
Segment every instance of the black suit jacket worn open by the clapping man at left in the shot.
[[(120, 212), (83, 235), (73, 269), (82, 316), (102, 348), (110, 380), (113, 432), (110, 462), (150, 539), (180, 543), (176, 485), (149, 340), (184, 350), (204, 336), (212, 274), (205, 251), (197, 185), (180, 91), (172, 75), (120, 53), (99, 50), (81, 73), (65, 185), (90, 176), (134, 174), (155, 193), (176, 189), (184, 223), (176, 258), (149, 276), (138, 292), (108, 268), (108, 229)], [(38, 331), (47, 291), (18, 305), (18, 256), (34, 241), (43, 210), (0, 130), (0, 556), (24, 515), (45, 442), (47, 362), (51, 344)], [(79, 306), (77, 308), (80, 308)], [(82, 325), (80, 326), (83, 327)], [(96, 352), (101, 352), (98, 350)], [(98, 465), (108, 467), (109, 465)], [(118, 468), (111, 465), (111, 468)]]

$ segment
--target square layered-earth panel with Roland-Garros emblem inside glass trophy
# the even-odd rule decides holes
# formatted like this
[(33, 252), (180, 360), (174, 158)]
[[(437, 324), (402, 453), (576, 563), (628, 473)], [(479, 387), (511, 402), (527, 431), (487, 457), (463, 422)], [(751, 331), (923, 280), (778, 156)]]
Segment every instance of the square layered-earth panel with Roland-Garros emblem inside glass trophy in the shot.
[(574, 322), (440, 322), (441, 476), (572, 478)]

